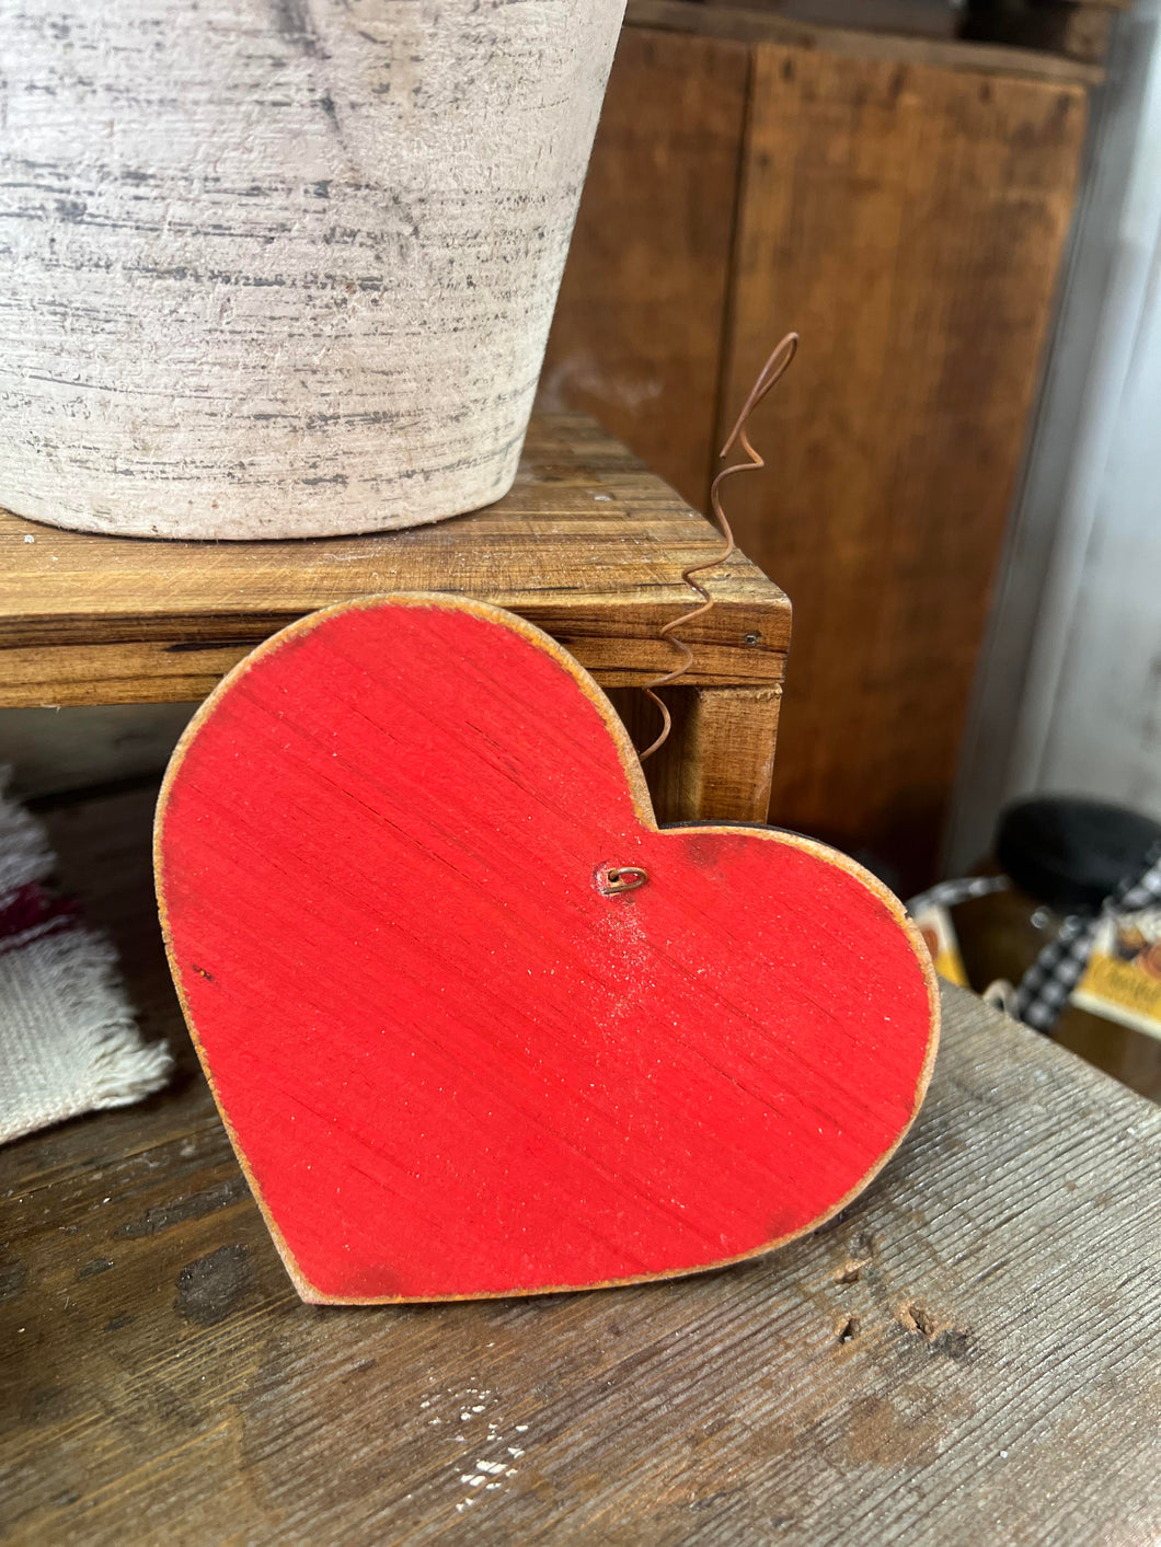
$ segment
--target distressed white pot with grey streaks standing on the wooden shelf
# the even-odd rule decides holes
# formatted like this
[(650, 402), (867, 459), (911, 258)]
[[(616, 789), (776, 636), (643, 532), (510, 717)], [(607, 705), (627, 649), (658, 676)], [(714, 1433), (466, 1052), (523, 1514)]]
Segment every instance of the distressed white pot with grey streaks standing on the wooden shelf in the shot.
[(624, 0), (0, 0), (0, 503), (310, 537), (511, 486)]

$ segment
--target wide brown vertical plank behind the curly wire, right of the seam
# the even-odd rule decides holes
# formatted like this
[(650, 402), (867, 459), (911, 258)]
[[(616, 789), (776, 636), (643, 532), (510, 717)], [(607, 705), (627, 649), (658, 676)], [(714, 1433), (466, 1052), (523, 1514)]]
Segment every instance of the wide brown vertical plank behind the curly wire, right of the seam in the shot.
[[(927, 877), (952, 784), (1085, 125), (1077, 87), (763, 43), (728, 410), (793, 373), (737, 480), (794, 597), (774, 820)], [(723, 425), (726, 424), (723, 416)]]

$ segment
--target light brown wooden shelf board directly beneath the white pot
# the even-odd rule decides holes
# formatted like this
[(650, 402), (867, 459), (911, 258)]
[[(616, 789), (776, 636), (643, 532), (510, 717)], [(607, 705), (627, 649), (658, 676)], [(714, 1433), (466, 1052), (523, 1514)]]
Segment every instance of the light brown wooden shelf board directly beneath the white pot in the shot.
[[(274, 630), (382, 591), (447, 591), (537, 623), (602, 682), (672, 664), (656, 634), (689, 608), (686, 565), (715, 531), (579, 415), (533, 421), (512, 492), (471, 515), (375, 537), (163, 543), (0, 514), (0, 704), (204, 696)], [(690, 682), (782, 676), (789, 603), (741, 554), (687, 630)]]

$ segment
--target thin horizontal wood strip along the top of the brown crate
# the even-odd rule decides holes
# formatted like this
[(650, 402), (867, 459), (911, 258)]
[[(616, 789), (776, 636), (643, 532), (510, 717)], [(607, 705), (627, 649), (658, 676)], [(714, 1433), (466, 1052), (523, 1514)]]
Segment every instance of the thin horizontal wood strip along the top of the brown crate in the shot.
[(938, 42), (861, 32), (854, 28), (816, 26), (789, 17), (735, 5), (690, 5), (689, 0), (628, 0), (625, 23), (748, 43), (783, 43), (817, 48), (845, 59), (927, 65), (964, 70), (969, 74), (1011, 76), (1056, 85), (1098, 87), (1105, 77), (1099, 65), (1042, 54), (1033, 48), (998, 43)]

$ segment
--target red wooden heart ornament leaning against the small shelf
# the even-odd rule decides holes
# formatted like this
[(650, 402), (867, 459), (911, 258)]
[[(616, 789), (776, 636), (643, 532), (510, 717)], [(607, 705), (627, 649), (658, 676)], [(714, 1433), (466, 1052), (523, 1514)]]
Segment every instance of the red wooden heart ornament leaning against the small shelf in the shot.
[(173, 978), (303, 1299), (526, 1295), (768, 1252), (847, 1204), (935, 1057), (851, 860), (659, 829), (548, 636), (395, 596), (294, 623), (186, 732)]

